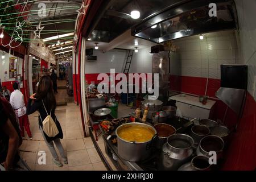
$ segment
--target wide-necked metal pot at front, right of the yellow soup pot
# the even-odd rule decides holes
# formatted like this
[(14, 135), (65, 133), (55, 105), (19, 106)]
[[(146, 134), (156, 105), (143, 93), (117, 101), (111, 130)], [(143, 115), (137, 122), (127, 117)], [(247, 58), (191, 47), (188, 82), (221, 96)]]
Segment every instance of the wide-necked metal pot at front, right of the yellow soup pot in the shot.
[(167, 138), (160, 154), (159, 169), (177, 170), (191, 159), (194, 141), (184, 134), (174, 134)]

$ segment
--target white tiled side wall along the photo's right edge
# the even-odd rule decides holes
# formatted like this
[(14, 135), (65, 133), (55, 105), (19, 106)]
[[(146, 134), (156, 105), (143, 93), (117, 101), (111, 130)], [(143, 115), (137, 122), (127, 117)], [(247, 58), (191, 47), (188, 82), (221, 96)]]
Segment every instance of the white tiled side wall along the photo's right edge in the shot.
[(238, 48), (241, 49), (241, 56), (238, 53), (237, 63), (248, 65), (248, 91), (256, 100), (256, 1), (235, 0), (240, 31), (237, 34)]

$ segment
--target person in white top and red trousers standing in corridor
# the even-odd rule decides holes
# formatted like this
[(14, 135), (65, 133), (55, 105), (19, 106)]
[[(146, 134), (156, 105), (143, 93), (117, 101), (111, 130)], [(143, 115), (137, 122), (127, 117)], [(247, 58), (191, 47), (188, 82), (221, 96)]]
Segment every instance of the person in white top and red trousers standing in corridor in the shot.
[(19, 126), (21, 130), (22, 138), (24, 139), (24, 128), (27, 132), (28, 137), (32, 140), (32, 134), (30, 131), (30, 122), (26, 114), (26, 105), (24, 103), (24, 96), (22, 92), (19, 91), (19, 85), (17, 82), (13, 84), (14, 92), (11, 93), (10, 104), (13, 106), (13, 109), (16, 115), (19, 118)]

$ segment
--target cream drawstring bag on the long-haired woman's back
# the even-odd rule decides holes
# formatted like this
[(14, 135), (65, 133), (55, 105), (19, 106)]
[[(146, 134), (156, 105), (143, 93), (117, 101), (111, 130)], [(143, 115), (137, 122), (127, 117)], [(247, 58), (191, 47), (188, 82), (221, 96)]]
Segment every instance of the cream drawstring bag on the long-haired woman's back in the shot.
[[(43, 100), (42, 100), (43, 102)], [(43, 102), (43, 106), (44, 106), (44, 102)], [(44, 106), (44, 109), (46, 110), (46, 106)], [(47, 113), (47, 110), (46, 110)], [(59, 130), (57, 129), (56, 126), (56, 117), (55, 117), (55, 122), (53, 121), (52, 117), (51, 117), (51, 113), (52, 110), (50, 112), (50, 114), (47, 113), (47, 117), (44, 119), (44, 121), (42, 120), (42, 117), (39, 113), (39, 116), (41, 118), (41, 121), (43, 122), (43, 131), (45, 134), (47, 134), (48, 137), (55, 137), (57, 134), (59, 134)]]

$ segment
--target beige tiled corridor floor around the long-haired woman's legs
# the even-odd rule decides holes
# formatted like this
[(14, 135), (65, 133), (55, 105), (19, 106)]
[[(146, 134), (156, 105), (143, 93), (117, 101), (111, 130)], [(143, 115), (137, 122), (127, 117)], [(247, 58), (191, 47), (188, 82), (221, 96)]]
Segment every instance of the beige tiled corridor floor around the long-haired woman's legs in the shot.
[[(63, 167), (58, 167), (52, 163), (52, 156), (43, 140), (42, 134), (39, 131), (38, 113), (34, 113), (29, 115), (32, 140), (27, 140), (28, 137), (26, 136), (26, 139), (23, 140), (22, 146), (20, 146), (21, 156), (24, 160), (26, 160), (31, 170), (106, 170), (106, 167), (104, 166), (104, 163), (102, 163), (96, 148), (94, 148), (92, 139), (90, 137), (83, 137), (79, 106), (73, 103), (68, 103), (67, 106), (57, 106), (56, 116), (59, 119), (63, 129), (64, 138), (61, 139), (61, 143), (63, 144), (64, 150), (68, 156), (69, 164), (64, 164)], [(103, 140), (99, 140), (98, 142), (103, 143)], [(46, 152), (46, 165), (38, 164), (39, 151)], [(60, 160), (61, 163), (63, 163), (61, 158)]]

